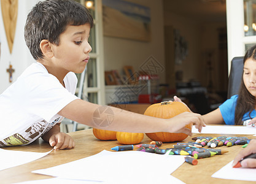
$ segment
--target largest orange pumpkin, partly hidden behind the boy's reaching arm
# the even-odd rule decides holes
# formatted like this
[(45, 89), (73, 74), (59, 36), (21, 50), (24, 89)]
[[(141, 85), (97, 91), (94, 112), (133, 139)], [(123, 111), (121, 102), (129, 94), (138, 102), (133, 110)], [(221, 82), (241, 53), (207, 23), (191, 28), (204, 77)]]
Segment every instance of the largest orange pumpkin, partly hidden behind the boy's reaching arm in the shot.
[[(145, 110), (144, 115), (157, 118), (172, 118), (182, 112), (190, 112), (188, 107), (182, 102), (161, 102), (157, 104), (150, 105), (147, 110)], [(186, 128), (192, 129), (192, 123), (186, 125)], [(169, 132), (154, 132), (146, 134), (149, 139), (158, 140), (161, 142), (176, 142), (187, 138), (187, 134), (184, 133), (169, 133)]]

